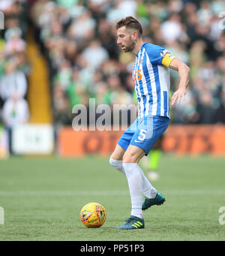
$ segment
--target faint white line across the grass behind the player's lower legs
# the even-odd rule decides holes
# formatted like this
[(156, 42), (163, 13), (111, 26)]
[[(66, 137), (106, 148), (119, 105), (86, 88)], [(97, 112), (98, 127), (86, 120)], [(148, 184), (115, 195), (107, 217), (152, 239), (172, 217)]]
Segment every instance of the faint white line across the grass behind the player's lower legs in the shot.
[[(168, 190), (161, 191), (163, 195), (205, 195), (205, 196), (225, 196), (225, 190)], [(98, 191), (0, 191), (0, 197), (18, 197), (18, 196), (118, 196), (118, 195), (129, 195), (127, 190), (98, 190)]]

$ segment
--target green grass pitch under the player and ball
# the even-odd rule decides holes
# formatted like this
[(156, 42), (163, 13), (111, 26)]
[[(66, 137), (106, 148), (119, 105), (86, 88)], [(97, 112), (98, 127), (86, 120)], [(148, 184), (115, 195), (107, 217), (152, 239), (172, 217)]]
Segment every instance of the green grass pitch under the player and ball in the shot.
[[(224, 181), (225, 158), (163, 155), (160, 179), (152, 184), (166, 202), (144, 212), (145, 229), (116, 230), (130, 215), (130, 194), (108, 158), (1, 160), (0, 240), (225, 240), (218, 212), (225, 206)], [(107, 210), (98, 229), (80, 222), (80, 209), (92, 201)]]

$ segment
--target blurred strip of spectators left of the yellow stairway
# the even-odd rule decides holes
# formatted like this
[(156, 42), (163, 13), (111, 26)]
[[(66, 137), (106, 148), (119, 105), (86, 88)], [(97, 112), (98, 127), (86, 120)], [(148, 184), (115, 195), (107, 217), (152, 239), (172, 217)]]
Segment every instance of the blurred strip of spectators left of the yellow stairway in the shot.
[(26, 0), (1, 0), (0, 11), (4, 14), (0, 38), (0, 125), (4, 124), (10, 133), (29, 118)]

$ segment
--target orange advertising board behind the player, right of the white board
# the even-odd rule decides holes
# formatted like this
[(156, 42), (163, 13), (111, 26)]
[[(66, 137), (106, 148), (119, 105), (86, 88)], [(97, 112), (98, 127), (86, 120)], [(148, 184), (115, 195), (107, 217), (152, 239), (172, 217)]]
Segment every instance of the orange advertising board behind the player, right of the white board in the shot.
[[(110, 155), (123, 131), (58, 131), (58, 154)], [(170, 125), (163, 136), (163, 151), (180, 155), (210, 153), (225, 156), (225, 125)]]

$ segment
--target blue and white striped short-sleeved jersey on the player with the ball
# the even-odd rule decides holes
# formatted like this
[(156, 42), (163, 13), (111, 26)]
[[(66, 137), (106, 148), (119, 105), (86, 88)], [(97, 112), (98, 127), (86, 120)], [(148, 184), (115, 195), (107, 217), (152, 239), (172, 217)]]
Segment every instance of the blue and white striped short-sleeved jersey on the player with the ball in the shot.
[[(138, 116), (169, 116), (169, 65), (162, 65), (162, 59), (170, 58), (164, 47), (155, 44), (142, 44), (136, 54), (133, 67), (133, 82), (135, 83), (138, 100)], [(169, 57), (168, 57), (169, 56)], [(167, 59), (168, 61), (168, 59)]]

